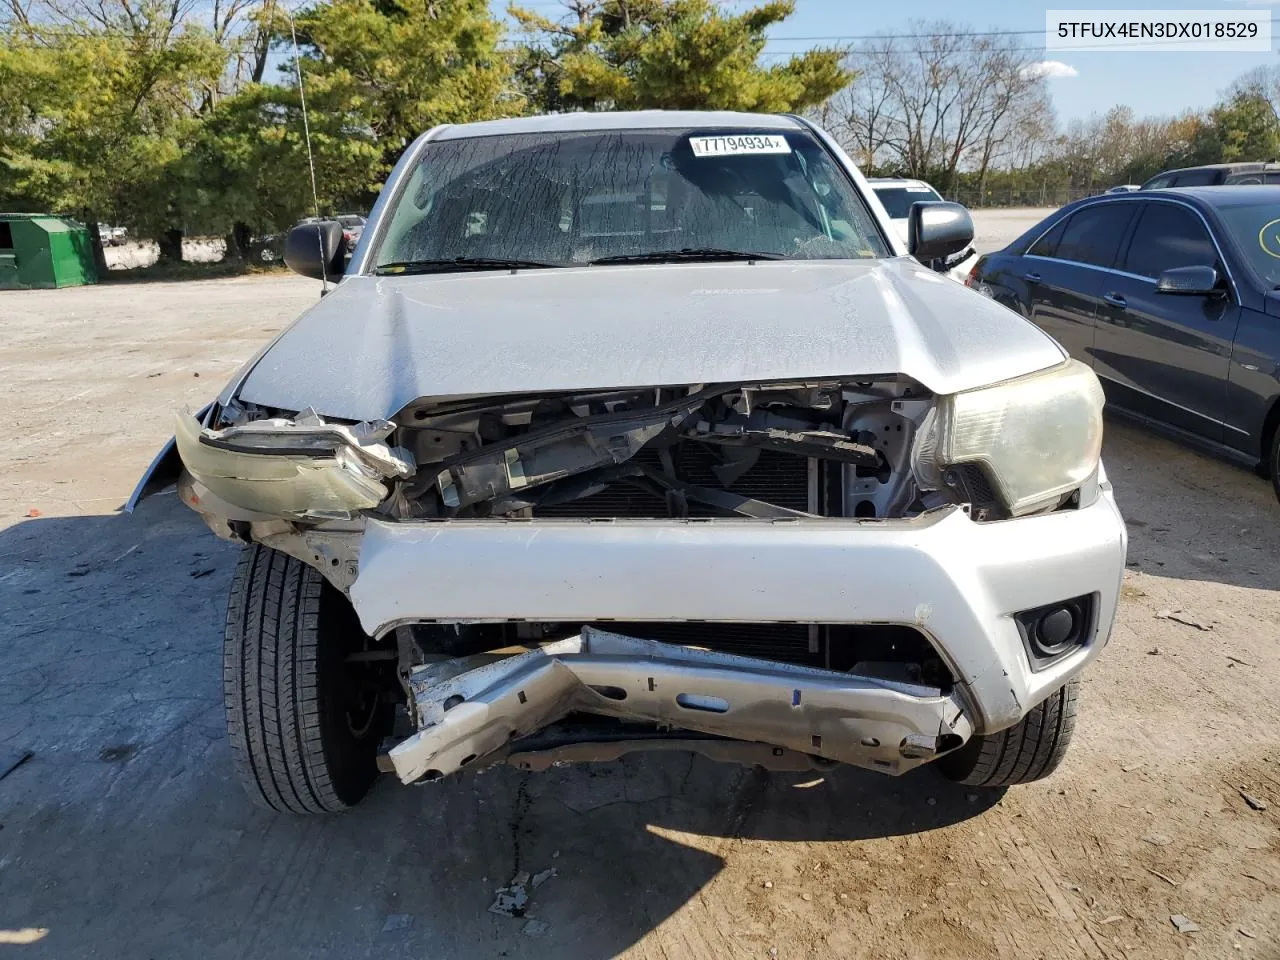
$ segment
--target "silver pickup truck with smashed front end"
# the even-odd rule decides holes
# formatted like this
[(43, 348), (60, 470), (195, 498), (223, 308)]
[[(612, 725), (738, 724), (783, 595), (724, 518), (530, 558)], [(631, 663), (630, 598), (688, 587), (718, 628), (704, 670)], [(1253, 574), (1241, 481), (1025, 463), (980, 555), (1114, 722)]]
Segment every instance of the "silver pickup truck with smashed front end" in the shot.
[(342, 810), (504, 762), (691, 750), (773, 769), (1062, 759), (1125, 529), (1093, 372), (920, 265), (794, 116), (439, 127), (340, 276), (196, 416), (170, 483), (243, 544), (239, 778)]

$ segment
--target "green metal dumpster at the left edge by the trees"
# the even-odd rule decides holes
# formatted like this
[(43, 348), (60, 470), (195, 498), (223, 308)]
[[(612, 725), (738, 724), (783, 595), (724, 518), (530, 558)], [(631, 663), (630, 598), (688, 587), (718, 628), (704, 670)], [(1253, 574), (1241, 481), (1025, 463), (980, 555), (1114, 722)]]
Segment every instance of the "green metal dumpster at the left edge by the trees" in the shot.
[(97, 283), (88, 228), (41, 214), (0, 214), (0, 289)]

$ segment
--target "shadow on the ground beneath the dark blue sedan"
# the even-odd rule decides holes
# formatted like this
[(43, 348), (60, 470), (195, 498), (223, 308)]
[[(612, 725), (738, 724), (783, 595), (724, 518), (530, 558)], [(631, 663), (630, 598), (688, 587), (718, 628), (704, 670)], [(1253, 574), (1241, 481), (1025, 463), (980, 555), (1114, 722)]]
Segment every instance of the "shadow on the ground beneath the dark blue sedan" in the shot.
[(1129, 566), (1275, 590), (1280, 503), (1271, 481), (1108, 417), (1102, 460), (1129, 529)]

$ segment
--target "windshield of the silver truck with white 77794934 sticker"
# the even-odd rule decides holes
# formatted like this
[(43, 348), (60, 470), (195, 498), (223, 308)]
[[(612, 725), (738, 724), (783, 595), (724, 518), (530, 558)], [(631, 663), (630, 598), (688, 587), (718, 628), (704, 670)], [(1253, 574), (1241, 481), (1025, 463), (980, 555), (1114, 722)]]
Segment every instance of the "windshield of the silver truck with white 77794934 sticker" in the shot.
[(433, 143), (394, 207), (379, 271), (439, 269), (458, 259), (570, 266), (681, 255), (888, 255), (852, 184), (813, 138), (710, 133)]

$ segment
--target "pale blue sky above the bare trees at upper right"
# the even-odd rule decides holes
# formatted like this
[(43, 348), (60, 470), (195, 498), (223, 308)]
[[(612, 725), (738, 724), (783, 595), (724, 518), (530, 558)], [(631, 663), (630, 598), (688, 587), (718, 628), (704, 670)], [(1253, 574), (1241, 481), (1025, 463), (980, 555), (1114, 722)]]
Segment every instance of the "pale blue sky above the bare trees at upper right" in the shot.
[[(730, 8), (745, 8), (751, 0), (722, 0)], [(556, 0), (527, 0), (526, 6), (539, 13), (553, 14), (562, 9)], [(494, 8), (506, 9), (506, 3), (495, 0)], [(1270, 9), (1280, 18), (1280, 0), (1112, 0), (1111, 3), (1033, 4), (1020, 0), (796, 0), (796, 13), (773, 31), (777, 37), (767, 47), (769, 51), (795, 51), (809, 42), (786, 41), (785, 37), (856, 36), (865, 33), (911, 32), (916, 19), (945, 19), (961, 29), (1044, 29), (1044, 12), (1069, 9), (1130, 9), (1130, 10), (1224, 10)], [(1272, 24), (1272, 35), (1280, 37), (1280, 23)], [(1027, 37), (1029, 44), (1043, 47), (1043, 40)], [(1261, 64), (1280, 65), (1275, 52), (1069, 52), (1052, 51), (1048, 59), (1074, 68), (1075, 76), (1051, 77), (1050, 90), (1061, 120), (1105, 113), (1116, 104), (1128, 104), (1142, 114), (1176, 114), (1188, 108), (1211, 105), (1219, 92), (1239, 74)], [(1064, 70), (1065, 73), (1065, 70)]]

